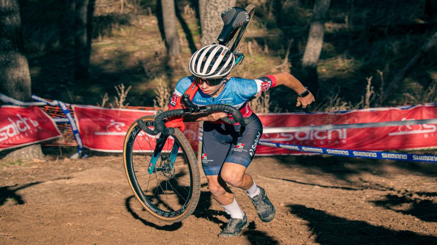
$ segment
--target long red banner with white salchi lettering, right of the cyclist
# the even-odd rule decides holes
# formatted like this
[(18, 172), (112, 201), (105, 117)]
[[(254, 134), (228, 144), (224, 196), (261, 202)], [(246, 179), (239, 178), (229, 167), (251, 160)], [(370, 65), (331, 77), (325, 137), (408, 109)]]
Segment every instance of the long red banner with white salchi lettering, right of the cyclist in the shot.
[[(296, 127), (437, 118), (437, 105), (371, 108), (343, 113), (258, 115), (267, 127)], [(262, 141), (290, 145), (349, 150), (399, 150), (437, 147), (437, 124), (373, 128), (306, 130), (263, 133)], [(257, 155), (302, 154), (302, 152), (258, 146)]]

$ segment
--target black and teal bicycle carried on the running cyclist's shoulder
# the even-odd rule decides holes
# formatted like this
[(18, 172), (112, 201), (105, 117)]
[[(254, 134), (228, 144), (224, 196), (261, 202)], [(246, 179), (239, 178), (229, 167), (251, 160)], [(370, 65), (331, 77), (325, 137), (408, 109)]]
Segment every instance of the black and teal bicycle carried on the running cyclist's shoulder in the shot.
[[(241, 41), (254, 12), (255, 6), (249, 5), (222, 13), (224, 26), (217, 40), (229, 47), (237, 63), (244, 58), (239, 52)], [(250, 122), (230, 105), (196, 106), (187, 94), (182, 96), (181, 103), (184, 105), (181, 109), (137, 119), (129, 127), (123, 144), (126, 175), (135, 198), (157, 219), (172, 223), (186, 219), (195, 210), (200, 196), (200, 173), (196, 154), (185, 135), (178, 128), (166, 127), (165, 121), (174, 116), (222, 111), (234, 118), (222, 120), (240, 123), (241, 130)]]

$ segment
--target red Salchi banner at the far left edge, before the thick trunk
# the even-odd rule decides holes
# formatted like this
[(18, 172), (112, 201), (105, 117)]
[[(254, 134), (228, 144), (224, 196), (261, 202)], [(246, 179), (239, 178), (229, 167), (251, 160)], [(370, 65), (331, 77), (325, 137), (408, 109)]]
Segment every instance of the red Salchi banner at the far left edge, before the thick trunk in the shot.
[(0, 107), (0, 151), (61, 137), (53, 119), (38, 106)]

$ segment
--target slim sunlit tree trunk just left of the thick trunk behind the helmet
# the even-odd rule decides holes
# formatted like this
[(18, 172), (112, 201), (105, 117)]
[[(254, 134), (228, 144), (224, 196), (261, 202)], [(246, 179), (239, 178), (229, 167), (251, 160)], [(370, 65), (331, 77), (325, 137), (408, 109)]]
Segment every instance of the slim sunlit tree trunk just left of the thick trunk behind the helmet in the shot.
[(163, 10), (164, 33), (168, 56), (175, 57), (180, 55), (181, 47), (176, 30), (176, 11), (174, 0), (161, 0)]

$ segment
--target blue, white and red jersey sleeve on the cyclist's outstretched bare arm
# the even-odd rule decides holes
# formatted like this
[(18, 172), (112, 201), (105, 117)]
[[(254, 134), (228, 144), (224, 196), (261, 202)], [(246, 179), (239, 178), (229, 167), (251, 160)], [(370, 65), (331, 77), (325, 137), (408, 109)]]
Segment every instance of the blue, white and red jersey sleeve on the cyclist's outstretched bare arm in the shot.
[(276, 86), (276, 78), (266, 75), (256, 79), (236, 78), (237, 91), (240, 95), (250, 98)]

